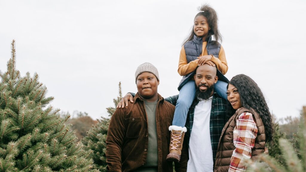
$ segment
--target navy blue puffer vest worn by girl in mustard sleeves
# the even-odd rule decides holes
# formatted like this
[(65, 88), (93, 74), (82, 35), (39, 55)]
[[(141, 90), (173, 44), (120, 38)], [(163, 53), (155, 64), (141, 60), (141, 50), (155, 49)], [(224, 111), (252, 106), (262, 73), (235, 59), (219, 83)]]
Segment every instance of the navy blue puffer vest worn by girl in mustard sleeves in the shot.
[[(202, 54), (202, 46), (203, 46), (202, 38), (198, 38), (196, 37), (196, 35), (193, 37), (193, 40), (185, 43), (184, 48), (185, 48), (185, 53), (186, 53), (186, 58), (187, 58), (188, 63), (196, 60), (197, 57), (200, 57), (200, 55)], [(218, 58), (220, 47), (221, 47), (221, 44), (218, 43), (217, 41), (211, 40), (211, 36), (210, 36), (208, 39), (207, 45), (206, 45), (207, 54), (209, 55), (212, 54), (216, 58)], [(196, 71), (193, 71), (192, 73), (185, 75), (182, 78), (178, 86), (178, 90), (180, 90), (190, 80), (190, 78), (194, 76), (195, 73)], [(218, 80), (222, 80), (227, 83), (229, 82), (229, 80), (219, 70), (217, 70), (217, 76), (218, 76)]]

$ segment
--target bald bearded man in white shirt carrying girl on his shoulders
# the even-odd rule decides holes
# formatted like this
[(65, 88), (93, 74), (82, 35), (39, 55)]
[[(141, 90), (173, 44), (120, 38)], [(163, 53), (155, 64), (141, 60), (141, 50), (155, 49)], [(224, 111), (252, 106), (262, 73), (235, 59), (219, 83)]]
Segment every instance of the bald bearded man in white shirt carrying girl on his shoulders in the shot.
[[(216, 67), (211, 65), (204, 64), (196, 69), (194, 75), (196, 98), (187, 114), (185, 124), (187, 132), (183, 142), (184, 147), (188, 144), (187, 172), (213, 172), (219, 138), (227, 122), (227, 100), (214, 92), (215, 83), (219, 78), (229, 82)], [(176, 105), (177, 99), (178, 95), (165, 98), (173, 105)], [(117, 107), (128, 106), (129, 100), (133, 103), (132, 95), (128, 93)], [(181, 141), (171, 139), (171, 144), (173, 147), (181, 148)], [(185, 150), (182, 150), (182, 154), (185, 154), (186, 152), (183, 151)]]

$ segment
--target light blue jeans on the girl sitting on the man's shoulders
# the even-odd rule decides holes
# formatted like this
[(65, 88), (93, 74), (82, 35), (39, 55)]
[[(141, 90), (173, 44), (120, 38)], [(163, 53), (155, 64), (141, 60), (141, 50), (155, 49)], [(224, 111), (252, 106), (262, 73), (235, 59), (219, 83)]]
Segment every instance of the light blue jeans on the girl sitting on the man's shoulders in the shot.
[[(223, 81), (217, 81), (215, 84), (214, 92), (217, 92), (223, 99), (227, 100), (227, 83)], [(180, 90), (180, 95), (177, 99), (175, 106), (174, 117), (172, 125), (184, 127), (186, 123), (188, 110), (196, 95), (196, 87), (194, 80), (189, 80)]]

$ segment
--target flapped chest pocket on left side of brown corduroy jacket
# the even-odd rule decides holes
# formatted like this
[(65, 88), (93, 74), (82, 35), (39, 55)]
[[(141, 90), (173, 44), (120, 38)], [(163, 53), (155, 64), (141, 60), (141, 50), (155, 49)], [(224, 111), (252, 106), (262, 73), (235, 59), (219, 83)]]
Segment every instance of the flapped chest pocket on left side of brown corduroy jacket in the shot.
[(128, 129), (126, 130), (127, 138), (137, 138), (140, 136), (142, 129), (142, 117), (127, 118), (125, 121), (128, 123)]

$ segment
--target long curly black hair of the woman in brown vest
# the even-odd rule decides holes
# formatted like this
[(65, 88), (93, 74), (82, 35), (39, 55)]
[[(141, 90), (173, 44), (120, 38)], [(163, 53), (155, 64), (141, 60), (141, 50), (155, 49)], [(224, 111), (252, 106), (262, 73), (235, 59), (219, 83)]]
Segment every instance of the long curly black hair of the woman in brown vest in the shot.
[[(272, 115), (263, 93), (255, 81), (244, 74), (240, 74), (233, 77), (229, 84), (237, 88), (241, 105), (247, 109), (253, 109), (259, 114), (265, 128), (266, 140), (267, 142), (272, 141), (274, 132)], [(231, 107), (229, 101), (227, 106)]]

